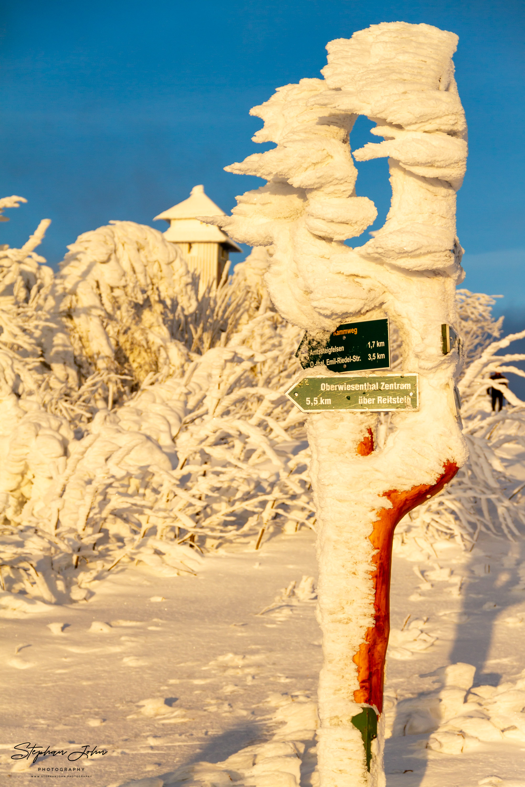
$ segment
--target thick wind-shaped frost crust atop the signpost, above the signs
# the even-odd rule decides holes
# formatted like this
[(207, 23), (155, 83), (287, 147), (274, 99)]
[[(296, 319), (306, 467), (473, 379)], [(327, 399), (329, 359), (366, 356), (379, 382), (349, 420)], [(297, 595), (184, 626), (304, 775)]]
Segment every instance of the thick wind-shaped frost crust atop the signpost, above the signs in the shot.
[[(251, 110), (264, 120), (253, 139), (277, 146), (227, 169), (268, 185), (238, 197), (233, 215), (213, 223), (238, 241), (275, 246), (268, 289), (291, 322), (331, 328), (383, 305), (389, 287), (372, 261), (460, 277), (456, 190), (467, 142), (453, 78), (456, 45), (456, 35), (427, 24), (373, 25), (328, 44), (325, 80), (280, 87)], [(349, 132), (359, 114), (376, 121), (372, 133), (385, 142), (354, 157), (389, 157), (393, 198), (373, 240), (349, 249), (342, 241), (377, 215), (354, 190)]]

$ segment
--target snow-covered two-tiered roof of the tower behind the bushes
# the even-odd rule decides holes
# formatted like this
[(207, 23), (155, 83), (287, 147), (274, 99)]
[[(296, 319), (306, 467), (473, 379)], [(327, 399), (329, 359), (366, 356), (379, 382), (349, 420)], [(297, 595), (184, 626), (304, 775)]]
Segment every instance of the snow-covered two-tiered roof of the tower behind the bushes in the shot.
[(225, 232), (210, 224), (204, 224), (196, 216), (226, 216), (224, 210), (205, 194), (204, 186), (194, 186), (190, 196), (173, 205), (158, 216), (153, 221), (164, 219), (169, 221), (170, 226), (164, 235), (167, 241), (172, 243), (195, 243), (195, 242), (215, 242), (224, 243), (232, 251), (241, 251)]

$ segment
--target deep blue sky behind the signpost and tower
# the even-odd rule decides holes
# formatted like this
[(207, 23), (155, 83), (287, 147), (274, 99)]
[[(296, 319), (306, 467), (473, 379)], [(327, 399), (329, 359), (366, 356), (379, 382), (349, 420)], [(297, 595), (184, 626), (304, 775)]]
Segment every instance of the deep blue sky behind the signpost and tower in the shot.
[[(2, 2), (0, 168), (9, 210), (0, 242), (19, 246), (50, 218), (42, 253), (56, 264), (79, 233), (153, 216), (204, 183), (225, 210), (255, 178), (223, 171), (262, 150), (250, 107), (279, 85), (319, 76), (327, 41), (380, 21), (456, 32), (470, 154), (458, 233), (471, 290), (525, 309), (523, 38), (520, 0), (17, 0)], [(368, 139), (361, 118), (353, 148)], [(375, 140), (376, 141), (376, 140)], [(358, 164), (358, 194), (383, 223), (386, 161)], [(363, 241), (366, 238), (363, 238)], [(523, 318), (525, 323), (525, 317)]]

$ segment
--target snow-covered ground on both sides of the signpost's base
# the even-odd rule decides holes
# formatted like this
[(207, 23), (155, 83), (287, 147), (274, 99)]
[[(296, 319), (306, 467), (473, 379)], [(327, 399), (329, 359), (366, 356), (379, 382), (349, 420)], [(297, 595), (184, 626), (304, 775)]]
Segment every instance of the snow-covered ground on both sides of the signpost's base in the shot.
[[(387, 787), (525, 785), (525, 544), (396, 541)], [(315, 784), (315, 572), (302, 529), (196, 577), (128, 567), (67, 606), (5, 594), (2, 784), (76, 775), (39, 767), (94, 787)], [(11, 759), (25, 741), (107, 754)]]

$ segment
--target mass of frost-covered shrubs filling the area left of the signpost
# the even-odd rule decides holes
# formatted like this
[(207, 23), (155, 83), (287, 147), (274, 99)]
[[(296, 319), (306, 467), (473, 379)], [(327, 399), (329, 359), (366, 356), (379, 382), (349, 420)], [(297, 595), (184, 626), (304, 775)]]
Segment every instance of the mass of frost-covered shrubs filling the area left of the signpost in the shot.
[(9, 249), (24, 295), (2, 309), (20, 368), (2, 390), (4, 589), (80, 598), (117, 564), (175, 575), (271, 519), (312, 524), (301, 414), (282, 393), (298, 330), (265, 294), (265, 254), (197, 301), (150, 227), (81, 235), (57, 276)]

